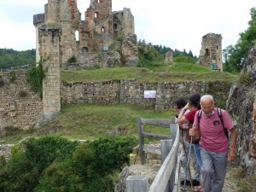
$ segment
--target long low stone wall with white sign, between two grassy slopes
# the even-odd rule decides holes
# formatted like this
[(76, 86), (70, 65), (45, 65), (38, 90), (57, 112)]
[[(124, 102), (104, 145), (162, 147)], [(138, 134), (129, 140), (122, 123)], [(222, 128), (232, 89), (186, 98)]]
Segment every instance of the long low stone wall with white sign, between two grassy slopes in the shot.
[[(140, 83), (137, 79), (62, 83), (61, 103), (64, 105), (120, 103), (165, 110), (173, 108), (172, 101), (180, 96), (189, 98), (193, 92), (207, 94), (207, 87), (206, 82)], [(144, 98), (144, 90), (156, 90), (156, 98)], [(223, 94), (228, 96), (228, 90), (225, 91), (222, 91)]]

